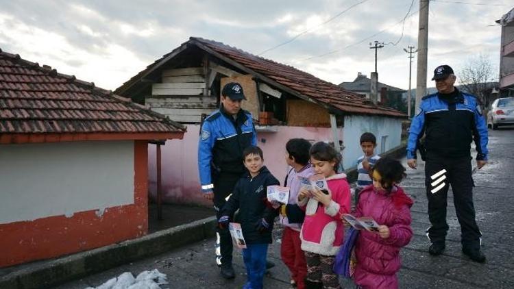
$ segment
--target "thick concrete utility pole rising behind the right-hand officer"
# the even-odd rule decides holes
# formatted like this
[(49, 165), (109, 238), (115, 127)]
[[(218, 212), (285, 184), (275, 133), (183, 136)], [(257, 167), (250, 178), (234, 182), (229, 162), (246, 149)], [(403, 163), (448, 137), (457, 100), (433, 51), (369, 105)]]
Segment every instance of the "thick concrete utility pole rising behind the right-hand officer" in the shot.
[(428, 2), (419, 0), (419, 30), (417, 32), (417, 77), (416, 108), (421, 104), (421, 97), (426, 95), (426, 65), (428, 58)]

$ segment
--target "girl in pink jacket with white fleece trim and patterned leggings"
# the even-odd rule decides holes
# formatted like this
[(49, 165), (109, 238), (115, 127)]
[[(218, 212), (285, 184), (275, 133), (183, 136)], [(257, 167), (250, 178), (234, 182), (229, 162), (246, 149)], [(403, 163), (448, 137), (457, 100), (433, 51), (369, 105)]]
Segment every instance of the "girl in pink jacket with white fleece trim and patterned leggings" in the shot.
[(339, 162), (341, 154), (325, 142), (310, 148), (310, 164), (316, 174), (326, 177), (329, 190), (304, 187), (298, 194), (298, 205), (306, 210), (300, 232), (307, 262), (306, 288), (339, 288), (332, 267), (344, 239), (341, 214), (350, 212), (350, 186), (345, 174), (336, 174)]

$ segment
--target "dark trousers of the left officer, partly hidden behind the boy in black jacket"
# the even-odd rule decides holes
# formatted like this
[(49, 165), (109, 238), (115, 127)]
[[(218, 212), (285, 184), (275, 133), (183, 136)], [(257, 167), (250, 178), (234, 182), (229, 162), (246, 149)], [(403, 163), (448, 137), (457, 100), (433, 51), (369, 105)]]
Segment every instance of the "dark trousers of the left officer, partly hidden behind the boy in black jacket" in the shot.
[[(238, 179), (241, 178), (240, 174), (220, 173), (217, 176), (212, 176), (214, 188), (214, 205), (216, 210), (216, 218), (219, 220), (221, 217), (221, 209), (225, 205), (225, 198), (232, 194), (232, 190), (236, 186)], [(232, 216), (230, 216), (232, 219)], [(232, 237), (228, 228), (220, 229), (217, 227), (219, 234), (219, 245), (221, 251), (221, 264), (232, 264)]]

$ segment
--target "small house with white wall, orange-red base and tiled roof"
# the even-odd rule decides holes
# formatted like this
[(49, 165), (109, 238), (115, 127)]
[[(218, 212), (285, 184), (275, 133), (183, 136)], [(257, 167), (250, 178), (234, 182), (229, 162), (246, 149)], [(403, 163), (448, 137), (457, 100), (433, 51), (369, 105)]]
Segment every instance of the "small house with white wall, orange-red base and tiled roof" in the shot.
[(0, 50), (0, 267), (147, 234), (148, 143), (185, 132)]

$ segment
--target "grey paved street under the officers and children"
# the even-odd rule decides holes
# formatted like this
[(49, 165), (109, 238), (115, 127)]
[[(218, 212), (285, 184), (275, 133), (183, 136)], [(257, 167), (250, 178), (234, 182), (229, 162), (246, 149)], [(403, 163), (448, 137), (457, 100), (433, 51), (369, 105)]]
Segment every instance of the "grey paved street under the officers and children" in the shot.
[[(483, 234), (483, 251), (487, 263), (477, 264), (461, 253), (460, 227), (448, 198), (448, 232), (443, 255), (428, 255), (429, 227), (424, 189), (423, 164), (408, 169), (402, 185), (415, 200), (412, 208), (414, 238), (402, 250), (400, 288), (514, 288), (514, 128), (489, 130), (489, 162), (474, 174), (474, 201), (478, 226)], [(476, 165), (474, 163), (474, 165)], [(277, 266), (265, 277), (265, 288), (289, 288), (289, 273), (280, 261), (280, 232), (269, 250), (269, 260)], [(246, 280), (241, 253), (235, 250), (236, 279), (224, 280), (215, 265), (214, 240), (204, 240), (146, 260), (125, 264), (109, 271), (76, 280), (58, 288), (99, 286), (119, 274), (157, 268), (167, 274), (167, 288), (241, 288)], [(166, 286), (163, 286), (166, 288)], [(354, 288), (343, 282), (343, 288)]]

